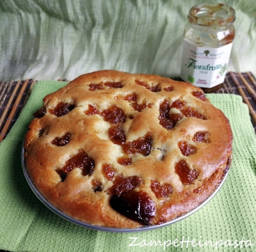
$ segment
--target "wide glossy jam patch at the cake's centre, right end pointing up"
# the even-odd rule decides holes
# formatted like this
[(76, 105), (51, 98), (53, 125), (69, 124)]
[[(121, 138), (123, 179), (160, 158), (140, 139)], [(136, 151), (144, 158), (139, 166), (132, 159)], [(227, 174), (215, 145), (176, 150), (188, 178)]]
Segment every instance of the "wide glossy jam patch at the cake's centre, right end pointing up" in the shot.
[(148, 156), (151, 151), (152, 143), (152, 137), (150, 133), (147, 133), (147, 135), (145, 135), (144, 137), (140, 137), (132, 142), (127, 142), (122, 145), (122, 147), (123, 151), (127, 154), (139, 153), (143, 156)]

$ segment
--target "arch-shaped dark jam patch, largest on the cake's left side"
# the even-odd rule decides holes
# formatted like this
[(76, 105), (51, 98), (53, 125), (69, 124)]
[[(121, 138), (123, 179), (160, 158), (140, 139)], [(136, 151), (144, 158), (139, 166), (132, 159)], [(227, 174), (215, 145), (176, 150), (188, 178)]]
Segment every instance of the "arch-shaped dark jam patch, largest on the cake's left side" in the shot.
[(94, 170), (94, 160), (86, 154), (86, 152), (81, 151), (77, 153), (72, 158), (68, 159), (65, 166), (61, 169), (62, 172), (67, 174), (71, 172), (74, 168), (81, 168), (83, 170), (83, 175), (92, 175)]

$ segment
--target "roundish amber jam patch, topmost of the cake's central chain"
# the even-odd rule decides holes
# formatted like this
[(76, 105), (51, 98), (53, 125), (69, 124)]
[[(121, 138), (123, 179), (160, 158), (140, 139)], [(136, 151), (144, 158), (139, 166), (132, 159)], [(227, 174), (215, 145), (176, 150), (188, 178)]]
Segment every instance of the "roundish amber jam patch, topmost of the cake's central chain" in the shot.
[(106, 110), (102, 111), (102, 116), (104, 120), (110, 122), (112, 124), (121, 124), (126, 121), (126, 115), (122, 108), (116, 107), (116, 105), (112, 105)]

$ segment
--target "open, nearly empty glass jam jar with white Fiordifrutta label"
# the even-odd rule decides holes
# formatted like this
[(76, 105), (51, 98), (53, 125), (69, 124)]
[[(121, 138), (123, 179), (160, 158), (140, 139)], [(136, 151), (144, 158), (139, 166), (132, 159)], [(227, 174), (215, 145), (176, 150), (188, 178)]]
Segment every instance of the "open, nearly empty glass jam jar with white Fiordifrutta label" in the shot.
[(184, 29), (180, 77), (205, 93), (224, 82), (235, 36), (233, 8), (224, 4), (198, 4), (189, 10)]

